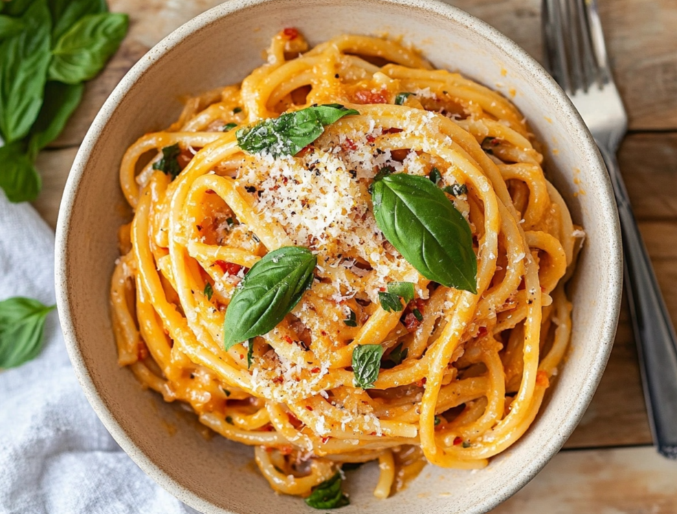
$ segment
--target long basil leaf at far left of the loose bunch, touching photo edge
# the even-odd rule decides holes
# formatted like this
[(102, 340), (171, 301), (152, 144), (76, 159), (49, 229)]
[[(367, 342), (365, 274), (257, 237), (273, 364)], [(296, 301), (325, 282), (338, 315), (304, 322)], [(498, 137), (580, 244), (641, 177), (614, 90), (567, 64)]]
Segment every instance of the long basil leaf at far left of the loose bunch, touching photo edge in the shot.
[(5, 143), (24, 137), (37, 118), (49, 66), (47, 2), (34, 0), (21, 22), (25, 29), (0, 45), (0, 133)]

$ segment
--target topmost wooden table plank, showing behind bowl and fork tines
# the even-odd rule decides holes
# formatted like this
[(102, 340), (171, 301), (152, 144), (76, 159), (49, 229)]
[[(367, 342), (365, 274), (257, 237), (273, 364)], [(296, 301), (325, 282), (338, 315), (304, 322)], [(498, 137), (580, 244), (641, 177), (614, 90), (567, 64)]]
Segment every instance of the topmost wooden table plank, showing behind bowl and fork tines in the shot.
[[(542, 61), (540, 0), (446, 0), (507, 34)], [(166, 34), (221, 0), (110, 0), (131, 16), (129, 34), (103, 73), (87, 84), (82, 104), (53, 146), (82, 142), (89, 124), (136, 62)], [(677, 2), (600, 0), (608, 47), (630, 129), (677, 129)]]

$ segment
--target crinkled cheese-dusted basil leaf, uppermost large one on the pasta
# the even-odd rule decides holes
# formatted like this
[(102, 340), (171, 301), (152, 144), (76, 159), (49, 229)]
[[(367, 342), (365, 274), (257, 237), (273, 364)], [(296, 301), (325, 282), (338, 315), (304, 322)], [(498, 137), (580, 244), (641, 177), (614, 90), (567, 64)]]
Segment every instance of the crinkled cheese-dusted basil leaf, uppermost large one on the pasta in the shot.
[(239, 129), (237, 143), (249, 153), (269, 153), (274, 158), (296, 155), (322, 135), (325, 125), (352, 114), (359, 113), (340, 104), (308, 107)]

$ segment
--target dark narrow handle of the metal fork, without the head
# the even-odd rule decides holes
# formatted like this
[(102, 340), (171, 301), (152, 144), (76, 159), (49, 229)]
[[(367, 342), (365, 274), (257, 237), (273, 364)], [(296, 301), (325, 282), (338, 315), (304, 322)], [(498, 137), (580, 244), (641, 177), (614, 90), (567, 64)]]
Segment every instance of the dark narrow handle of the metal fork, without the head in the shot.
[(639, 353), (649, 423), (658, 452), (677, 458), (677, 337), (651, 260), (630, 208), (616, 155), (599, 145), (621, 219), (632, 327)]

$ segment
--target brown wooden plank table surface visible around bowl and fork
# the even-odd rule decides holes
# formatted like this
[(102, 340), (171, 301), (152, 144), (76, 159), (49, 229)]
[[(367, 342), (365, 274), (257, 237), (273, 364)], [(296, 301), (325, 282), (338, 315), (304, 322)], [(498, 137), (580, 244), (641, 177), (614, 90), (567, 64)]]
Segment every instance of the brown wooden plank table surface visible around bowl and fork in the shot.
[[(491, 23), (542, 60), (540, 0), (447, 1)], [(599, 2), (614, 74), (630, 115), (621, 170), (677, 323), (677, 1)], [(78, 146), (113, 87), (163, 36), (221, 0), (109, 3), (111, 10), (130, 14), (129, 35), (103, 73), (87, 85), (64, 133), (38, 157), (44, 189), (34, 205), (52, 227)], [(594, 338), (591, 334), (591, 344)], [(493, 512), (677, 513), (677, 462), (658, 456), (651, 445), (627, 306), (595, 399), (565, 449)]]

